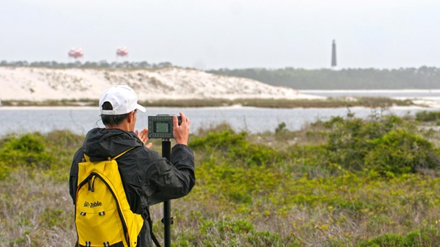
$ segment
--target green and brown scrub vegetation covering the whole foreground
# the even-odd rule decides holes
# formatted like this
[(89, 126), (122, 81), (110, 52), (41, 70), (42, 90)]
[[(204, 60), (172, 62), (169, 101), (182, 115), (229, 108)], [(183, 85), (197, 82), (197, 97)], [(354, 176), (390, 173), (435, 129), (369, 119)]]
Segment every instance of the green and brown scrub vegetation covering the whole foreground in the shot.
[[(439, 246), (434, 125), (410, 116), (349, 114), (298, 132), (284, 123), (259, 134), (224, 125), (201, 130), (189, 143), (197, 185), (172, 202), (172, 244)], [(82, 141), (63, 131), (0, 140), (5, 246), (73, 245), (67, 180)], [(160, 150), (159, 143), (153, 147)], [(151, 213), (162, 239), (162, 205)]]

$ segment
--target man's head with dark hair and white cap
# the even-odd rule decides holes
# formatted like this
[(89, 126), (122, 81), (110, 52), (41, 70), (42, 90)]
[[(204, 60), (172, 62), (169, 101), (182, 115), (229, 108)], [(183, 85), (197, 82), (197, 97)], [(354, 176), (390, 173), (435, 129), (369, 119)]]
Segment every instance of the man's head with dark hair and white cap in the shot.
[[(136, 111), (145, 112), (144, 106), (137, 104), (137, 95), (131, 87), (116, 85), (105, 90), (100, 99), (102, 123), (106, 128), (119, 128), (133, 131)], [(124, 124), (124, 126), (121, 126)], [(126, 129), (128, 128), (128, 129)]]

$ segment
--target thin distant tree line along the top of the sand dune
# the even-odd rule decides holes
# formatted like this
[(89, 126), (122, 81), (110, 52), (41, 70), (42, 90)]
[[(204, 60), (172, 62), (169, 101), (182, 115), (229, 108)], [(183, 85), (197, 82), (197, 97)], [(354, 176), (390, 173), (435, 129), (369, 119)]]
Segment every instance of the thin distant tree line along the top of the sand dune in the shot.
[(102, 60), (99, 62), (56, 62), (56, 61), (41, 61), (41, 62), (27, 62), (27, 61), (1, 61), (0, 67), (45, 67), (54, 69), (69, 69), (69, 68), (81, 68), (81, 69), (113, 69), (113, 68), (126, 68), (126, 69), (152, 69), (172, 67), (170, 62), (159, 62), (158, 64), (149, 64), (146, 61), (142, 62), (107, 62)]

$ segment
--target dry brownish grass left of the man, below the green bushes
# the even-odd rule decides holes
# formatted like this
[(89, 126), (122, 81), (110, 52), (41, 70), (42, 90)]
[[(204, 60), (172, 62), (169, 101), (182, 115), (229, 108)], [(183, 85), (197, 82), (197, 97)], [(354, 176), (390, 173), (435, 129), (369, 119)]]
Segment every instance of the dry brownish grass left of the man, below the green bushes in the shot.
[(24, 169), (0, 181), (0, 246), (73, 246), (74, 207), (65, 184)]

